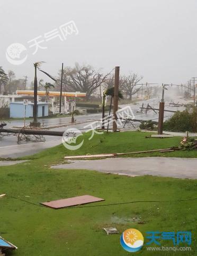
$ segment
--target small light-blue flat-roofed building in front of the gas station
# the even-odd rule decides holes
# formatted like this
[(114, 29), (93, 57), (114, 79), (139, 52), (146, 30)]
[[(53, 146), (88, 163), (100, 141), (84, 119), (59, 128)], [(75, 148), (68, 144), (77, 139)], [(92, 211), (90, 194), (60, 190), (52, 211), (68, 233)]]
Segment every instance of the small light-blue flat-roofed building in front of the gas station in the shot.
[[(49, 104), (46, 102), (38, 102), (37, 117), (47, 117), (49, 113)], [(23, 102), (10, 102), (10, 117), (23, 118), (25, 105)], [(26, 105), (26, 117), (33, 117), (33, 103)]]

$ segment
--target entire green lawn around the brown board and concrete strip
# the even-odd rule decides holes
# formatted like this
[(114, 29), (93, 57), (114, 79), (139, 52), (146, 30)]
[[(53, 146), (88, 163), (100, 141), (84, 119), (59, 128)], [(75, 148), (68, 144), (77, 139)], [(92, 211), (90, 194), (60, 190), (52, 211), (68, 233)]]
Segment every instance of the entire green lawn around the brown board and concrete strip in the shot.
[[(145, 135), (148, 134), (105, 134), (88, 141), (89, 134), (86, 134), (84, 145), (78, 152), (68, 152), (60, 145), (32, 156), (31, 161), (0, 167), (0, 194), (7, 194), (0, 199), (0, 236), (19, 247), (8, 255), (131, 255), (122, 249), (119, 242), (121, 232), (127, 228), (136, 228), (144, 236), (147, 231), (157, 230), (192, 232), (191, 252), (150, 252), (144, 246), (133, 255), (196, 255), (197, 200), (190, 199), (197, 197), (197, 180), (126, 177), (96, 171), (49, 168), (50, 164), (62, 161), (65, 154), (166, 148), (177, 146), (181, 139), (145, 139)], [(170, 155), (175, 156), (175, 153), (176, 156), (196, 156), (195, 151), (172, 152)], [(162, 153), (163, 156), (168, 154)], [(39, 204), (84, 194), (102, 197), (105, 201), (60, 210)], [(158, 202), (116, 204), (132, 201)], [(103, 204), (112, 205), (100, 206)], [(117, 227), (120, 234), (106, 235), (102, 228), (111, 226)], [(147, 241), (145, 238), (145, 243)], [(162, 241), (162, 245), (173, 246), (168, 241)]]

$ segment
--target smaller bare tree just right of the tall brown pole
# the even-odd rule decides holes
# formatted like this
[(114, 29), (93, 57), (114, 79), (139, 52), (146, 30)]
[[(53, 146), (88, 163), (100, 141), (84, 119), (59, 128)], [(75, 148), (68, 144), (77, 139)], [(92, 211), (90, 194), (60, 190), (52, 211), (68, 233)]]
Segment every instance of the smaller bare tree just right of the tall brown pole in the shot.
[(138, 77), (137, 73), (130, 73), (123, 84), (123, 90), (126, 95), (129, 95), (130, 100), (132, 100), (132, 95), (136, 94), (141, 90), (141, 87), (137, 88), (138, 83), (141, 81), (142, 77)]

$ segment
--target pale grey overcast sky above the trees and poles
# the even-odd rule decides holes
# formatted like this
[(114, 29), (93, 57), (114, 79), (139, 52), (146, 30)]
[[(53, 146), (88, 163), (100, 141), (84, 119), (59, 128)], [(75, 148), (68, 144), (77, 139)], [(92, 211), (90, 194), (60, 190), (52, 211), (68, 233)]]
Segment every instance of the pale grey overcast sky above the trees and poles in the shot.
[[(108, 72), (137, 72), (148, 82), (186, 82), (197, 76), (196, 0), (1, 0), (0, 66), (17, 78), (33, 79), (33, 62), (56, 76), (75, 62)], [(73, 20), (78, 35), (56, 37), (32, 54), (28, 41)], [(6, 59), (12, 43), (27, 48), (28, 59), (13, 65)], [(48, 79), (39, 73), (39, 78)]]

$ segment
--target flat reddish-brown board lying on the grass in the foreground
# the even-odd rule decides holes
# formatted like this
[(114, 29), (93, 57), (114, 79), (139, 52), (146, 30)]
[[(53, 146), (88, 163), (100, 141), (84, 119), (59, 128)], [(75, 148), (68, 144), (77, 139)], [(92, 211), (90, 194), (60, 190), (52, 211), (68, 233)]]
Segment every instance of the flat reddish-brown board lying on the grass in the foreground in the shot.
[(60, 209), (60, 208), (86, 204), (86, 203), (99, 202), (99, 201), (104, 201), (104, 199), (95, 197), (92, 195), (82, 195), (82, 196), (70, 197), (67, 199), (44, 202), (41, 204), (46, 205), (47, 207), (50, 207), (53, 209)]

